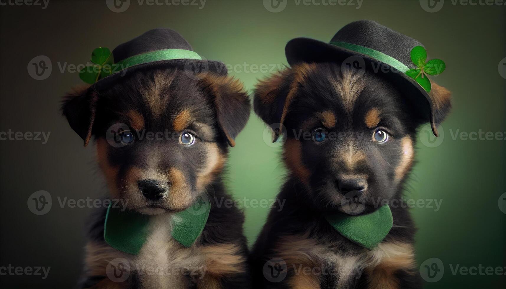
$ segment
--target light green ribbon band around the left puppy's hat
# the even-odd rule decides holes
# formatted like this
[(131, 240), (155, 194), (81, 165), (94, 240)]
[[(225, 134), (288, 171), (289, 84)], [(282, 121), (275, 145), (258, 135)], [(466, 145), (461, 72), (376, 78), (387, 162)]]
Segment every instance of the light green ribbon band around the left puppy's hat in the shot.
[(172, 59), (198, 59), (202, 58), (194, 51), (185, 50), (185, 49), (160, 49), (155, 51), (150, 51), (146, 53), (141, 53), (138, 55), (131, 56), (129, 58), (123, 59), (114, 63), (116, 67), (120, 67), (120, 69), (125, 69), (127, 67), (131, 67), (138, 64), (144, 64), (155, 61), (162, 60), (172, 60)]

